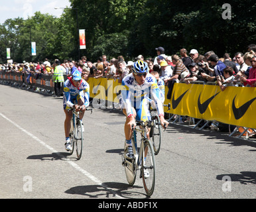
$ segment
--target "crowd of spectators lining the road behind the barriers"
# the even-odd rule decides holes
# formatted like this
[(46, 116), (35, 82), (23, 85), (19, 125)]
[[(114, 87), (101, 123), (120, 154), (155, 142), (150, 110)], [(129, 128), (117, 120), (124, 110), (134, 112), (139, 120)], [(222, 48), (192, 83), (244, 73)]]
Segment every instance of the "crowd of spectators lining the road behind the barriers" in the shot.
[[(180, 49), (180, 54), (167, 56), (164, 54), (164, 48), (155, 48), (155, 58), (145, 59), (143, 55), (137, 56), (134, 60), (125, 61), (123, 56), (110, 58), (102, 55), (97, 62), (88, 61), (86, 56), (82, 56), (78, 62), (64, 60), (61, 66), (64, 67), (64, 75), (70, 76), (74, 70), (82, 73), (82, 78), (113, 78), (121, 82), (127, 74), (131, 73), (131, 66), (136, 60), (143, 60), (149, 64), (149, 72), (158, 72), (160, 79), (169, 87), (169, 93), (172, 91), (174, 83), (192, 83), (200, 81), (202, 83), (214, 82), (220, 85), (222, 91), (228, 86), (256, 86), (256, 63), (254, 60), (256, 45), (250, 44), (247, 52), (237, 52), (231, 57), (225, 53), (222, 57), (217, 56), (214, 51), (208, 51), (200, 54), (198, 50), (191, 49), (189, 52), (186, 48)], [(4, 64), (0, 65), (0, 71), (4, 72), (23, 72), (27, 76), (31, 74), (54, 75), (56, 61), (50, 63), (47, 59), (44, 62), (21, 64)], [(232, 74), (233, 73), (233, 74)], [(29, 83), (29, 79), (27, 78)], [(167, 96), (169, 98), (170, 96)]]

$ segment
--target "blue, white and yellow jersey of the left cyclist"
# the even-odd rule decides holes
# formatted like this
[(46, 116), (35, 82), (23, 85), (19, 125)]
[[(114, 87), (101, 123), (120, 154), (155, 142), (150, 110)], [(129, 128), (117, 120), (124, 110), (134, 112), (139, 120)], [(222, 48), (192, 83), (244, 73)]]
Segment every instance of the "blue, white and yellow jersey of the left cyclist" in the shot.
[(68, 109), (68, 107), (73, 107), (73, 102), (75, 101), (77, 103), (80, 97), (84, 99), (84, 105), (88, 107), (90, 104), (90, 85), (84, 79), (82, 79), (80, 85), (78, 87), (75, 87), (70, 80), (71, 79), (67, 79), (64, 82), (64, 109)]

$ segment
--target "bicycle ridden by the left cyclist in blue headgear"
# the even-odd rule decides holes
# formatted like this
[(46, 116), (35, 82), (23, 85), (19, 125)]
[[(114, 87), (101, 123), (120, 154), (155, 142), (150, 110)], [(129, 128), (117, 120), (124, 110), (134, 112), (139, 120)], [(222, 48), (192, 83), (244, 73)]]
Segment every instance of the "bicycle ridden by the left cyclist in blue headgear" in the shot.
[[(83, 150), (83, 127), (82, 127), (82, 121), (79, 118), (80, 111), (76, 111), (76, 109), (67, 109), (67, 111), (72, 111), (72, 119), (71, 119), (71, 128), (70, 128), (70, 143), (72, 146), (72, 149), (70, 150), (70, 155), (73, 154), (74, 148), (76, 146), (76, 156), (77, 159), (80, 160), (82, 156), (82, 150)], [(86, 108), (86, 111), (91, 111), (92, 109)]]

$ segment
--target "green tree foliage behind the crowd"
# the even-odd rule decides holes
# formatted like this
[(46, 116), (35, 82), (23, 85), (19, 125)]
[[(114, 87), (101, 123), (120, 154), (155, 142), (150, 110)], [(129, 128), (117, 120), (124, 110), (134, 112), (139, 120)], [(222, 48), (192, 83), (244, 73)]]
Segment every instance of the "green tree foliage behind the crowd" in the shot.
[[(0, 62), (11, 57), (23, 60), (78, 59), (78, 28), (86, 29), (86, 50), (80, 56), (96, 61), (106, 54), (108, 59), (123, 55), (133, 59), (139, 54), (156, 55), (163, 46), (171, 55), (186, 48), (200, 54), (214, 50), (221, 57), (225, 52), (245, 52), (255, 43), (255, 0), (233, 0), (231, 20), (222, 19), (221, 0), (70, 0), (58, 19), (34, 13), (27, 20), (7, 19), (0, 25)], [(78, 15), (78, 19), (76, 18)], [(76, 25), (78, 21), (78, 28)], [(17, 28), (15, 25), (19, 25)], [(31, 41), (36, 42), (36, 56), (31, 56)]]

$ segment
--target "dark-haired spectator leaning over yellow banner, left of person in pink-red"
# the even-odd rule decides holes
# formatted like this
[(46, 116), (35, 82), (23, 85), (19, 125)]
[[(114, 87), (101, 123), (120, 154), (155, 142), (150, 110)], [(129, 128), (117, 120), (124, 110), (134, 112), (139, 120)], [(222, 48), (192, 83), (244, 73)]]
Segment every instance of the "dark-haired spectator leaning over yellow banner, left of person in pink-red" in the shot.
[(217, 84), (220, 86), (222, 91), (224, 91), (227, 86), (234, 86), (233, 79), (235, 78), (235, 76), (233, 76), (234, 70), (230, 66), (224, 68), (223, 72), (224, 77), (217, 77)]

